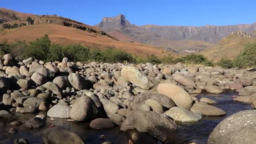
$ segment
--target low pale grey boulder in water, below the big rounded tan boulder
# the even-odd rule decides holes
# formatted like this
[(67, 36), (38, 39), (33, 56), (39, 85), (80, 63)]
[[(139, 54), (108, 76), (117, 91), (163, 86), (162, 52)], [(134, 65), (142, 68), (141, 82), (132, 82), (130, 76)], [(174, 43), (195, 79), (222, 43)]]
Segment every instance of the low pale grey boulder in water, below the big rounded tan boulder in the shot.
[(183, 107), (173, 107), (164, 113), (171, 117), (174, 121), (193, 122), (202, 119), (202, 115), (195, 112), (190, 112)]

